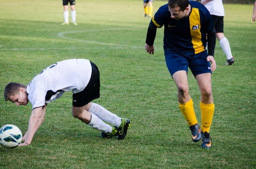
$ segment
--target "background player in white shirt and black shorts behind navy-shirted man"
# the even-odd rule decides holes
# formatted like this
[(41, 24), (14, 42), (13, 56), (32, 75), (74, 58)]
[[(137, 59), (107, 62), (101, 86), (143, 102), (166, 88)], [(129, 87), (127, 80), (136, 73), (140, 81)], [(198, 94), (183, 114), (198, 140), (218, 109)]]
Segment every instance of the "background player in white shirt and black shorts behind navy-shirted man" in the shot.
[(224, 53), (227, 56), (227, 62), (225, 65), (232, 65), (234, 63), (234, 57), (232, 56), (228, 39), (224, 36), (224, 6), (222, 0), (202, 0), (201, 3), (208, 9), (212, 15), (213, 24), (216, 30), (216, 37), (221, 45)]

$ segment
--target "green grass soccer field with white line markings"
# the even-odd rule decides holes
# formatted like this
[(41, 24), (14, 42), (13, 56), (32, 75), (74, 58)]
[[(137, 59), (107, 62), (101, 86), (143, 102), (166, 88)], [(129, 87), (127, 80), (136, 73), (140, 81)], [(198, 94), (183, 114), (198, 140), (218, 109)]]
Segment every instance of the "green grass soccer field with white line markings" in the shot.
[[(142, 0), (77, 0), (77, 26), (61, 26), (62, 1), (0, 0), (0, 126), (27, 131), (31, 104), (5, 102), (9, 82), (28, 84), (43, 68), (85, 58), (101, 73), (94, 102), (132, 122), (124, 140), (103, 139), (71, 114), (71, 92), (48, 104), (45, 121), (29, 146), (0, 147), (0, 168), (256, 168), (256, 23), (253, 5), (225, 4), (225, 36), (236, 62), (216, 43), (212, 74), (215, 113), (212, 148), (191, 140), (177, 89), (163, 54), (163, 28), (155, 54), (144, 49), (150, 18)], [(154, 13), (167, 1), (154, 1)], [(69, 9), (70, 10), (70, 9)], [(71, 22), (71, 19), (70, 19)], [(198, 122), (200, 93), (188, 73)]]

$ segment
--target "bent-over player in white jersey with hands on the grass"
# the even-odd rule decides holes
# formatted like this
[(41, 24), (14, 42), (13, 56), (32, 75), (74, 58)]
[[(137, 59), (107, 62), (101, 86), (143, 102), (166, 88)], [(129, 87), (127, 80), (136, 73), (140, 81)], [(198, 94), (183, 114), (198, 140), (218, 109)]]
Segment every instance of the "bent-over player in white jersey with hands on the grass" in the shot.
[[(17, 106), (32, 104), (32, 112), (28, 123), (28, 130), (22, 140), (28, 145), (34, 133), (44, 121), (46, 106), (55, 101), (64, 92), (73, 92), (72, 115), (101, 131), (103, 138), (118, 136), (124, 139), (130, 120), (120, 118), (102, 106), (91, 103), (100, 97), (100, 74), (98, 67), (86, 59), (69, 59), (57, 62), (35, 76), (28, 86), (11, 82), (5, 86), (5, 101), (11, 101)], [(109, 122), (104, 123), (102, 120)]]

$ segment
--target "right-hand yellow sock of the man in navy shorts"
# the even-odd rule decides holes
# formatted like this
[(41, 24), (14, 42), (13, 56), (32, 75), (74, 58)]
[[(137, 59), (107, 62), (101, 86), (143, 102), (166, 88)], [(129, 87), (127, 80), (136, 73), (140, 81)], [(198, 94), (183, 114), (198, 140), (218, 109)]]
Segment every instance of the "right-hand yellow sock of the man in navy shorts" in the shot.
[(210, 127), (212, 125), (212, 118), (213, 118), (213, 112), (214, 112), (214, 104), (205, 104), (200, 102), (200, 109), (202, 114), (202, 124), (201, 124), (201, 130), (202, 132), (209, 133)]

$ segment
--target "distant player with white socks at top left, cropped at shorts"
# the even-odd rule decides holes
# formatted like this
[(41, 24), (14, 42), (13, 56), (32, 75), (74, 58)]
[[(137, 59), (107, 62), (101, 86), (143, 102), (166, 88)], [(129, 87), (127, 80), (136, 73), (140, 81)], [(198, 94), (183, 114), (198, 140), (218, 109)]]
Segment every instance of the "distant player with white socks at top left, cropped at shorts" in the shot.
[(71, 19), (72, 23), (74, 25), (77, 25), (76, 20), (76, 12), (75, 12), (75, 0), (63, 0), (63, 6), (64, 6), (64, 22), (61, 25), (69, 25), (69, 10), (68, 10), (68, 2), (70, 3), (70, 9), (71, 9)]

